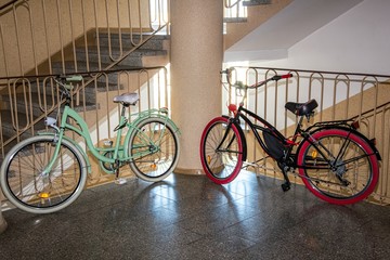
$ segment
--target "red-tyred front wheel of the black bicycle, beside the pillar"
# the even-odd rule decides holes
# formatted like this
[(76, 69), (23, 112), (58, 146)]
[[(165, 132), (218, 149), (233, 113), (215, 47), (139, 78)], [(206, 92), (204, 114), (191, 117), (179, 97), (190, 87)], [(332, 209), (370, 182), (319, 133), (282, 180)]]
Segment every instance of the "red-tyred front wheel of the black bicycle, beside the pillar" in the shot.
[(206, 176), (217, 184), (232, 182), (243, 166), (243, 142), (235, 125), (216, 117), (205, 128), (200, 140), (200, 159)]

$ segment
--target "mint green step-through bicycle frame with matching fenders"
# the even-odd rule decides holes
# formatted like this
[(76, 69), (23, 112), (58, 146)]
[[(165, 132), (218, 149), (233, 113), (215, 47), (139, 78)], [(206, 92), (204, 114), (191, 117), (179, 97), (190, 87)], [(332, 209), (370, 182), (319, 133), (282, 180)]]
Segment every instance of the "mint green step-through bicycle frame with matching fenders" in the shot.
[[(148, 109), (145, 112), (141, 112), (141, 113), (136, 113), (136, 114), (132, 114), (130, 116), (134, 116), (138, 115), (138, 118), (133, 121), (133, 122), (128, 122), (127, 118), (125, 117), (125, 107), (122, 107), (122, 113), (120, 115), (120, 119), (119, 119), (119, 125), (116, 128), (117, 131), (117, 135), (116, 135), (116, 140), (115, 140), (115, 145), (113, 147), (106, 147), (106, 148), (100, 148), (96, 147), (91, 139), (91, 135), (89, 133), (89, 129), (88, 126), (86, 123), (86, 121), (82, 119), (81, 116), (78, 115), (78, 113), (76, 110), (74, 110), (73, 108), (70, 108), (70, 106), (68, 104), (65, 105), (65, 109), (63, 112), (62, 115), (62, 119), (61, 119), (61, 127), (57, 128), (55, 126), (55, 119), (49, 119), (47, 121), (51, 121), (53, 122), (52, 125), (49, 125), (49, 127), (52, 127), (56, 130), (56, 133), (54, 133), (55, 138), (54, 141), (57, 143), (53, 157), (50, 160), (50, 162), (47, 166), (47, 169), (43, 171), (44, 172), (49, 172), (54, 162), (56, 157), (58, 156), (60, 153), (60, 147), (61, 147), (61, 142), (63, 139), (67, 139), (68, 141), (70, 141), (73, 144), (75, 144), (75, 146), (82, 152), (82, 155), (86, 158), (88, 168), (89, 168), (89, 172), (91, 171), (91, 164), (89, 161), (89, 158), (87, 156), (87, 154), (82, 151), (82, 148), (80, 147), (80, 145), (78, 145), (74, 140), (67, 138), (65, 135), (65, 131), (66, 130), (70, 130), (73, 132), (76, 132), (78, 135), (80, 135), (87, 144), (87, 147), (89, 148), (89, 151), (92, 153), (92, 155), (100, 161), (105, 162), (105, 164), (115, 164), (115, 162), (123, 162), (123, 161), (128, 161), (131, 160), (133, 158), (138, 158), (138, 157), (142, 157), (151, 152), (143, 152), (143, 153), (138, 153), (133, 156), (126, 156), (129, 154), (129, 147), (127, 145), (121, 145), (121, 140), (122, 140), (122, 129), (125, 127), (127, 127), (129, 129), (129, 131), (127, 132), (126, 136), (125, 136), (125, 141), (123, 144), (128, 144), (129, 143), (129, 139), (130, 135), (133, 131), (138, 131), (140, 129), (136, 128), (136, 125), (148, 117), (158, 117), (158, 118), (162, 118), (165, 120), (166, 123), (170, 123), (171, 126), (173, 126), (176, 128), (176, 131), (179, 131), (178, 128), (176, 127), (176, 125), (172, 122), (172, 120), (164, 115), (164, 114), (168, 114), (168, 110), (166, 108), (160, 108), (160, 109)], [(74, 125), (68, 123), (68, 118), (74, 119), (74, 121), (79, 126), (79, 128), (75, 127)], [(141, 131), (142, 132), (142, 131)], [(44, 133), (40, 133), (41, 135), (43, 134), (52, 134), (52, 132), (44, 132)], [(162, 136), (162, 133), (160, 134), (160, 136)], [(154, 144), (154, 142), (148, 139), (146, 135), (144, 135), (144, 139), (146, 142)], [(106, 157), (103, 154), (105, 154), (106, 152), (114, 152), (112, 157)]]

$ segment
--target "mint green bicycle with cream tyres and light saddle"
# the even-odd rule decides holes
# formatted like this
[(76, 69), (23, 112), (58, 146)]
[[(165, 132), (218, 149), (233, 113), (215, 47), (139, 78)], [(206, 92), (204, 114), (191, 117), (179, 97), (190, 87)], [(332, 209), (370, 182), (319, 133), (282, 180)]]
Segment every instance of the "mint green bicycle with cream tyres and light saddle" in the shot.
[(60, 126), (58, 108), (56, 118), (46, 118), (46, 125), (54, 131), (40, 132), (20, 142), (1, 165), (1, 188), (13, 205), (31, 213), (50, 213), (69, 206), (81, 194), (91, 164), (78, 142), (65, 135), (67, 130), (80, 135), (100, 167), (116, 174), (117, 180), (120, 180), (119, 168), (128, 164), (145, 181), (160, 181), (173, 171), (180, 153), (179, 129), (166, 108), (141, 112), (130, 122), (125, 116), (126, 108), (135, 105), (139, 95), (115, 96), (114, 102), (121, 104), (116, 140), (98, 147), (92, 143), (86, 121), (70, 107), (70, 91), (82, 77), (62, 76), (54, 80), (61, 89), (61, 100), (65, 101)]

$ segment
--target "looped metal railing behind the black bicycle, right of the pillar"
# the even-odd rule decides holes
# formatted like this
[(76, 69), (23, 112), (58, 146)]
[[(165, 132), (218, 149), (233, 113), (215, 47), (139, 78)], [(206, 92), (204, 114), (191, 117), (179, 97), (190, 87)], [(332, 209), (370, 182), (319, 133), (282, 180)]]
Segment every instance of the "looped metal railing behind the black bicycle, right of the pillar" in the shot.
[[(377, 148), (382, 157), (379, 184), (370, 197), (378, 204), (390, 203), (390, 76), (343, 74), (333, 72), (294, 70), (284, 68), (234, 67), (234, 81), (252, 84), (272, 77), (291, 73), (289, 80), (268, 83), (257, 90), (249, 90), (245, 106), (276, 126), (286, 136), (294, 134), (297, 118), (288, 113), (286, 102), (306, 102), (315, 99), (318, 102), (314, 121), (355, 119), (360, 121), (360, 131), (376, 139)], [(224, 91), (222, 104), (240, 102), (242, 96), (234, 88)], [(227, 107), (223, 107), (227, 114)], [(313, 121), (308, 122), (313, 123)], [(275, 161), (256, 145), (248, 131), (249, 170), (258, 174), (282, 178)], [(264, 159), (262, 159), (264, 158)], [(295, 182), (300, 183), (299, 178)]]

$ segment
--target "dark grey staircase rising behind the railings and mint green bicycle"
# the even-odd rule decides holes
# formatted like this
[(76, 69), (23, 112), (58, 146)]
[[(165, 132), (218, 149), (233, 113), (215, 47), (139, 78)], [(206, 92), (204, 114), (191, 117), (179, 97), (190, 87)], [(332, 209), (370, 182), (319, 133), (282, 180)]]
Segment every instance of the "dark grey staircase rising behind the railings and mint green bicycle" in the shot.
[[(88, 44), (84, 44), (84, 37)], [(126, 72), (146, 66), (165, 66), (168, 63), (166, 42), (168, 36), (151, 34), (132, 35), (91, 30), (75, 40), (75, 44), (64, 48), (41, 63), (39, 72), (48, 75), (82, 74), (86, 86), (79, 91), (74, 102), (76, 110), (93, 110), (100, 108), (96, 94), (99, 92), (122, 89), (118, 86), (118, 72)], [(64, 57), (64, 58), (63, 58)], [(107, 70), (108, 69), (108, 70)], [(103, 74), (100, 72), (104, 72)], [(36, 77), (28, 72), (24, 80), (14, 80), (11, 86), (15, 91), (11, 94), (3, 89), (1, 100), (1, 135), (6, 153), (15, 143), (43, 130), (44, 115), (55, 116), (53, 109), (58, 103), (54, 83), (47, 77)], [(31, 77), (28, 77), (28, 76)], [(135, 89), (127, 89), (134, 91)], [(108, 93), (106, 93), (109, 95)], [(17, 134), (20, 133), (20, 135)], [(2, 156), (1, 156), (2, 157)]]

